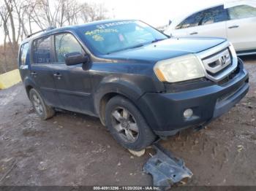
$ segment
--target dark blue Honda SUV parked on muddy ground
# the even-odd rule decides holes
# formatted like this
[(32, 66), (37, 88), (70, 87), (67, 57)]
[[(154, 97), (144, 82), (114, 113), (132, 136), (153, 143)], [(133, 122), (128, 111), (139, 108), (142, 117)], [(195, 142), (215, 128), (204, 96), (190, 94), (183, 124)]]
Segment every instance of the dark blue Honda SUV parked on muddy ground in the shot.
[(170, 38), (139, 20), (105, 20), (44, 31), (20, 45), (19, 69), (39, 116), (66, 109), (99, 117), (139, 150), (198, 127), (249, 90), (232, 44)]

